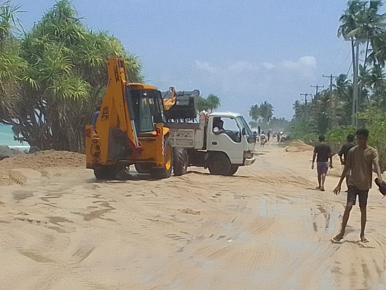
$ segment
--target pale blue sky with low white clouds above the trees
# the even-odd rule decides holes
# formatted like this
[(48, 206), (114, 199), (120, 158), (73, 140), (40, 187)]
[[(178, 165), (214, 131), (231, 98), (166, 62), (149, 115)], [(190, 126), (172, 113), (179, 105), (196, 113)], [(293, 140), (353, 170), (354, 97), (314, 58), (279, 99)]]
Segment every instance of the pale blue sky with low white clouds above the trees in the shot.
[[(19, 18), (28, 29), (55, 1), (15, 3), (27, 11)], [(350, 45), (337, 38), (345, 3), (73, 0), (84, 24), (108, 30), (141, 58), (149, 84), (217, 94), (220, 111), (246, 117), (251, 105), (269, 101), (286, 118), (300, 93), (315, 93), (310, 85), (328, 86), (322, 73), (347, 73)]]

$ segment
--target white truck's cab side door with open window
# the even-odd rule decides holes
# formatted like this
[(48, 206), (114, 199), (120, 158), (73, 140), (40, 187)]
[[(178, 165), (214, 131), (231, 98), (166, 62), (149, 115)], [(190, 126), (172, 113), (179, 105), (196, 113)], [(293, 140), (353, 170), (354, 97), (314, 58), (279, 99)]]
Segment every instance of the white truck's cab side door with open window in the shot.
[[(244, 157), (244, 144), (242, 142), (242, 130), (232, 117), (212, 117), (208, 128), (207, 149), (209, 151), (221, 151), (227, 154), (230, 163), (242, 164)], [(215, 133), (219, 128), (221, 133)]]

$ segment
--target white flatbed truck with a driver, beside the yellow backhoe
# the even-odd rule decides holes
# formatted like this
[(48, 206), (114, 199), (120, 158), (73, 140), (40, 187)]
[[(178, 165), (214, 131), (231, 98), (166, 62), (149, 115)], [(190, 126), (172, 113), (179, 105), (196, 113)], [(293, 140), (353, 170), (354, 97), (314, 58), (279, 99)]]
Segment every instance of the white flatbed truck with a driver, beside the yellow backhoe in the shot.
[[(219, 120), (222, 130), (215, 133), (213, 129)], [(175, 176), (185, 174), (188, 166), (208, 168), (211, 174), (232, 176), (240, 166), (255, 162), (256, 137), (240, 114), (206, 113), (203, 116), (201, 113), (199, 123), (171, 122), (165, 126), (170, 129)]]

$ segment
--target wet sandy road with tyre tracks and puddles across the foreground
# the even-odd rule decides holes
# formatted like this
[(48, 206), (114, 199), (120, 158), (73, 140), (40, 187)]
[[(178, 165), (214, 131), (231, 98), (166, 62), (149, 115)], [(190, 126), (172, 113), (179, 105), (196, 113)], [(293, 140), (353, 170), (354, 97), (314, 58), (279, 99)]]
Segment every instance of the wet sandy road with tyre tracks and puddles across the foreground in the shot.
[[(315, 187), (312, 152), (259, 151), (235, 177), (96, 182), (91, 171), (18, 169), (0, 186), (0, 289), (386, 289), (385, 204), (370, 192), (343, 244), (345, 194)], [(340, 165), (337, 165), (340, 167)]]

